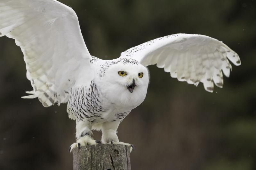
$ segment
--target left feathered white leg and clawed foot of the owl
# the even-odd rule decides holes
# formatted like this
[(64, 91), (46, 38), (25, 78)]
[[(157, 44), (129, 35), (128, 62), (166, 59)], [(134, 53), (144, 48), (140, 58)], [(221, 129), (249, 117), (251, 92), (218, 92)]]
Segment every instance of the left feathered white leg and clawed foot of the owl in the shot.
[(100, 141), (95, 141), (91, 136), (92, 133), (92, 125), (87, 121), (84, 122), (76, 122), (76, 143), (71, 144), (68, 151), (71, 152), (75, 147), (80, 148), (84, 145), (89, 144), (99, 144)]

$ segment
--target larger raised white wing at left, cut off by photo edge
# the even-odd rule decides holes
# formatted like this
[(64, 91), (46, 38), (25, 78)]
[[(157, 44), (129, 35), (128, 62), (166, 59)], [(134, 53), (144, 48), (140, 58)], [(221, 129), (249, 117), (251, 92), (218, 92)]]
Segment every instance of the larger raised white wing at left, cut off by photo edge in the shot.
[(49, 107), (67, 102), (82, 67), (90, 67), (75, 11), (55, 0), (0, 0), (0, 36), (24, 54), (31, 96)]

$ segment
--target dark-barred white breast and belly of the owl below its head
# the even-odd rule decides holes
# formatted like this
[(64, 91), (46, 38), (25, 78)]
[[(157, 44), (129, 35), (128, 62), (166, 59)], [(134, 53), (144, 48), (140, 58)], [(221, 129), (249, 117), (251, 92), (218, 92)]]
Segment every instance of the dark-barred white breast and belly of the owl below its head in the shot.
[(91, 124), (122, 121), (131, 109), (116, 107), (102, 95), (95, 81), (90, 86), (80, 86), (71, 89), (67, 112), (69, 118), (77, 121), (87, 121)]

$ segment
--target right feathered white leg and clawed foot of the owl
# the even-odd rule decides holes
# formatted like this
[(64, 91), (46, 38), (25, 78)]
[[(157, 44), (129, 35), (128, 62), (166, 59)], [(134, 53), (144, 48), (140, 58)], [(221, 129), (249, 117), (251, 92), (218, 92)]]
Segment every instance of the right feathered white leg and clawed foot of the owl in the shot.
[(111, 143), (111, 144), (124, 144), (129, 146), (130, 152), (134, 151), (134, 146), (132, 144), (127, 144), (124, 142), (119, 142), (119, 139), (116, 135), (116, 130), (119, 126), (120, 122), (105, 122), (102, 123), (101, 131), (102, 137), (101, 142), (103, 144)]

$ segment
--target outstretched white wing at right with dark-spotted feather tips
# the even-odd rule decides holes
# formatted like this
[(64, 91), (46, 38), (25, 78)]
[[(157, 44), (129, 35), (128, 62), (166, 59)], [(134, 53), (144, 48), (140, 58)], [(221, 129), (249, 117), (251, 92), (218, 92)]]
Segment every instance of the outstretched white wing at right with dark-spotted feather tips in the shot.
[(213, 82), (223, 86), (222, 71), (229, 77), (232, 66), (228, 59), (235, 65), (241, 64), (239, 56), (227, 45), (197, 34), (157, 38), (122, 52), (120, 57), (133, 58), (144, 66), (156, 64), (179, 81), (194, 85), (202, 82), (208, 92), (213, 92)]

